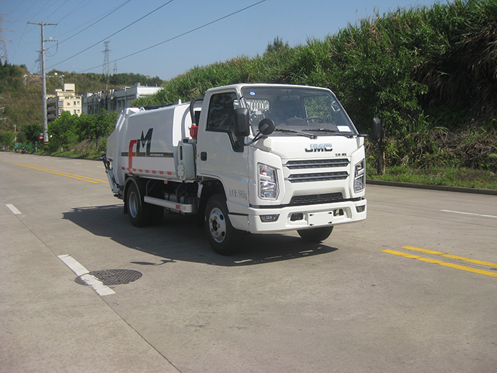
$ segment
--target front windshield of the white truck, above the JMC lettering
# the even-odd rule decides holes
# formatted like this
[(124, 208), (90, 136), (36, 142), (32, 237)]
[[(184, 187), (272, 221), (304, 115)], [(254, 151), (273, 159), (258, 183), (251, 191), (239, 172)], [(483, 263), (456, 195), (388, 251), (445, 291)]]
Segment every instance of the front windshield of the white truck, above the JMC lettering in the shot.
[(344, 109), (330, 91), (304, 87), (244, 87), (252, 130), (270, 118), (275, 133), (308, 131), (357, 135)]

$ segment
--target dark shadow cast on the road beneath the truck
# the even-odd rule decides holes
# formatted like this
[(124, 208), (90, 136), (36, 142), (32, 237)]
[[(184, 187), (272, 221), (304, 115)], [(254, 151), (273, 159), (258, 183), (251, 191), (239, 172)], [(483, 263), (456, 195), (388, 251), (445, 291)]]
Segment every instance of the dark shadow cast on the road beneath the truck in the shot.
[(177, 260), (201, 262), (208, 265), (243, 266), (291, 260), (320, 255), (338, 250), (326, 245), (306, 243), (300, 237), (281, 234), (242, 235), (238, 251), (234, 255), (217, 255), (208, 244), (206, 235), (199, 228), (196, 216), (164, 214), (159, 226), (136, 228), (128, 216), (123, 215), (123, 205), (73, 208), (64, 218), (102, 237), (140, 250), (164, 260), (157, 262), (133, 262), (138, 265), (163, 265)]

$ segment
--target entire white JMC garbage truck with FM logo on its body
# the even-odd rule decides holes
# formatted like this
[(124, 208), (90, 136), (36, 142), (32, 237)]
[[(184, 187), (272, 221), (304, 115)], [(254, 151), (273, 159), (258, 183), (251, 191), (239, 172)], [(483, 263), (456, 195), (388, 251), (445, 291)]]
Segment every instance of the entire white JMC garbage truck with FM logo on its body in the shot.
[(364, 220), (364, 137), (329, 89), (233, 84), (126, 108), (102, 160), (133, 226), (160, 223), (164, 209), (196, 214), (213, 250), (229, 255), (242, 232), (320, 242)]

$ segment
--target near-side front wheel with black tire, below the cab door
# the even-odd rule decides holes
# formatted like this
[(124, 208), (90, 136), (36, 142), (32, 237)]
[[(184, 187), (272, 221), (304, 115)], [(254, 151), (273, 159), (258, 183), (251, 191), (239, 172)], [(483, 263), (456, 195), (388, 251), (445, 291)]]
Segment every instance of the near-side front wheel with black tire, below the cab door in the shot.
[(213, 250), (219, 255), (233, 254), (239, 243), (240, 230), (231, 225), (224, 194), (214, 194), (208, 199), (204, 221)]

